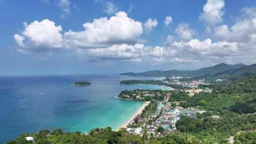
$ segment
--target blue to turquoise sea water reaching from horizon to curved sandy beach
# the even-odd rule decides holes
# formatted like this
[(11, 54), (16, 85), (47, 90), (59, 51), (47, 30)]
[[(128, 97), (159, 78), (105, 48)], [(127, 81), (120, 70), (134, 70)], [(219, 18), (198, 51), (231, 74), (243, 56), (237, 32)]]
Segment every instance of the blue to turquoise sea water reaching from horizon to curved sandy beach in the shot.
[[(0, 143), (43, 128), (89, 132), (95, 127), (116, 129), (143, 102), (113, 98), (121, 90), (169, 88), (121, 85), (121, 80), (159, 79), (119, 75), (0, 77)], [(89, 81), (91, 86), (73, 86)]]

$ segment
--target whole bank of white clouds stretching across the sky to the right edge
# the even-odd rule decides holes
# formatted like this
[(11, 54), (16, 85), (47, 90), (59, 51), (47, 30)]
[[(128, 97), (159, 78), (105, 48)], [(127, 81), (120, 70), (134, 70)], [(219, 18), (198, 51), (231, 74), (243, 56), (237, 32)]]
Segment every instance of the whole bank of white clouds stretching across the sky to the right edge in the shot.
[(63, 32), (60, 25), (48, 19), (23, 24), (25, 28), (14, 39), (18, 52), (25, 54), (68, 49), (68, 53), (86, 61), (147, 64), (251, 63), (256, 59), (256, 9), (253, 8), (242, 9), (242, 15), (233, 25), (208, 25), (210, 38), (196, 38), (197, 32), (189, 24), (181, 23), (174, 35), (167, 36), (163, 46), (141, 44), (146, 41), (140, 39), (143, 29), (147, 33), (152, 31), (157, 27), (156, 19), (149, 18), (142, 24), (123, 11), (110, 18), (86, 22), (80, 31)]

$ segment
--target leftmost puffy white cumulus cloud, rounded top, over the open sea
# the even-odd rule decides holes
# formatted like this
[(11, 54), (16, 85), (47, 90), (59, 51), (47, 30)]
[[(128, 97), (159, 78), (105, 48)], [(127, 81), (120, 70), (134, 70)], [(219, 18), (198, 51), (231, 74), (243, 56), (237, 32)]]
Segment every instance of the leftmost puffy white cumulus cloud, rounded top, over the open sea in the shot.
[[(51, 48), (62, 48), (61, 26), (55, 26), (48, 19), (41, 22), (35, 20), (25, 27), (21, 35), (15, 34), (14, 38), (20, 48), (27, 51), (45, 51)], [(26, 41), (24, 43), (24, 41)]]

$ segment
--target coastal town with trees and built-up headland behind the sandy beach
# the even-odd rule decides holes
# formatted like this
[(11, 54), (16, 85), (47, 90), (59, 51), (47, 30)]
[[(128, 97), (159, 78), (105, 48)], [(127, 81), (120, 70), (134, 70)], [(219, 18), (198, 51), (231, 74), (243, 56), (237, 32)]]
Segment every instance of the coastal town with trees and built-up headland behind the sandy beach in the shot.
[[(211, 92), (209, 89), (202, 91)], [(179, 106), (180, 102), (169, 102), (172, 95), (177, 92), (177, 90), (143, 89), (122, 91), (118, 96), (119, 99), (145, 101), (146, 103), (144, 109), (122, 127), (126, 128), (128, 134), (161, 137), (174, 133), (177, 130), (176, 123), (181, 117), (197, 118), (197, 114), (205, 112), (196, 108), (183, 108)]]

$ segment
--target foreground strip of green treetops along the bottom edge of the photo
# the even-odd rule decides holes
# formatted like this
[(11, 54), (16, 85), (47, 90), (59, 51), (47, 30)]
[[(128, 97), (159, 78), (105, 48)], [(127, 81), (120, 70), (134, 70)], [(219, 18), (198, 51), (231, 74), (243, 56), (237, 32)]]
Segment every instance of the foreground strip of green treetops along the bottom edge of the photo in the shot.
[(9, 141), (6, 144), (32, 144), (31, 141), (27, 142), (26, 136), (35, 137), (37, 139), (36, 144), (200, 144), (201, 142), (196, 136), (179, 132), (160, 138), (151, 137), (146, 139), (144, 136), (128, 135), (124, 129), (115, 132), (110, 127), (92, 129), (88, 135), (81, 135), (80, 132), (62, 133), (61, 129), (55, 130), (61, 133), (46, 132), (39, 135), (41, 131), (30, 135), (20, 135), (16, 140)]

